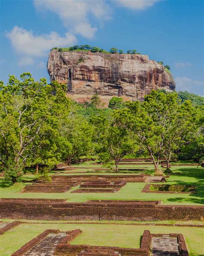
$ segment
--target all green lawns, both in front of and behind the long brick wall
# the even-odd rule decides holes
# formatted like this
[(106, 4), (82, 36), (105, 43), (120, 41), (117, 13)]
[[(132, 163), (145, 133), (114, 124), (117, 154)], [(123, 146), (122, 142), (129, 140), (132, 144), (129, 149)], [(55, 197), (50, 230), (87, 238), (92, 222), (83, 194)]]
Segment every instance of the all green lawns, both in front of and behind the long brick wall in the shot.
[[(186, 162), (182, 162), (186, 163)], [(74, 170), (53, 171), (50, 175), (117, 175), (114, 171), (104, 170), (102, 165), (95, 165), (93, 162), (80, 163), (73, 165)], [(95, 172), (93, 168), (99, 169)], [(131, 169), (145, 169), (142, 173), (154, 174), (153, 165), (143, 165), (141, 163), (125, 163), (119, 166), (121, 169), (130, 169), (129, 171), (120, 171), (120, 175), (137, 175), (141, 171), (132, 171)], [(172, 166), (174, 175), (167, 178), (165, 184), (194, 185), (197, 187), (196, 194), (158, 194), (141, 193), (145, 182), (128, 182), (120, 191), (116, 193), (22, 193), (21, 190), (28, 181), (34, 179), (33, 174), (26, 174), (19, 183), (14, 186), (8, 186), (8, 183), (0, 179), (0, 197), (1, 198), (59, 198), (67, 199), (67, 202), (85, 202), (89, 199), (132, 199), (132, 200), (161, 200), (163, 204), (168, 205), (202, 205), (204, 204), (204, 169), (197, 166)], [(71, 172), (71, 173), (68, 173)], [(155, 184), (155, 183), (154, 183)], [(161, 184), (161, 183), (160, 183)], [(0, 221), (11, 222), (11, 219), (2, 219)], [(98, 246), (120, 246), (139, 248), (139, 241), (145, 229), (151, 233), (182, 233), (185, 237), (186, 245), (190, 256), (204, 256), (204, 228), (203, 227), (177, 227), (177, 226), (155, 226), (155, 224), (183, 224), (183, 225), (203, 225), (203, 221), (33, 221), (21, 220), (25, 223), (7, 231), (0, 236), (0, 255), (9, 256), (18, 250), (22, 245), (32, 238), (36, 237), (46, 229), (59, 229), (62, 231), (81, 229), (83, 233), (77, 237), (73, 244), (89, 244)], [(12, 243), (11, 243), (12, 241)]]

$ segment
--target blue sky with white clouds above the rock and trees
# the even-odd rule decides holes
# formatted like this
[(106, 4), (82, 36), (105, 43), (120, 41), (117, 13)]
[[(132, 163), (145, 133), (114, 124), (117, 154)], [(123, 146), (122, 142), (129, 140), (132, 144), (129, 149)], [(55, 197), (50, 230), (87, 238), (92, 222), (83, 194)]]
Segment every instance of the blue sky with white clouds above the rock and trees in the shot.
[(49, 50), (136, 49), (171, 67), (176, 91), (204, 96), (204, 0), (0, 0), (0, 80), (31, 72)]

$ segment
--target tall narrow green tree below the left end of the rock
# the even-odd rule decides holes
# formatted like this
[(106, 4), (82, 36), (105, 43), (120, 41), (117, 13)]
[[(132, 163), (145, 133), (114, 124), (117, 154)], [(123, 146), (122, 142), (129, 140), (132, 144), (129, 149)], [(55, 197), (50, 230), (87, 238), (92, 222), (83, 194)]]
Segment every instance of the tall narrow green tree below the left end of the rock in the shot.
[[(53, 81), (51, 86), (46, 87), (47, 101), (49, 109), (45, 121), (32, 144), (32, 152), (28, 157), (27, 166), (36, 165), (36, 174), (40, 169), (40, 178), (42, 178), (46, 168), (52, 168), (60, 161), (57, 155), (57, 140), (59, 131), (62, 129), (62, 122), (68, 122), (68, 116), (71, 109), (71, 101), (65, 96), (64, 86)], [(41, 169), (43, 168), (43, 171)]]

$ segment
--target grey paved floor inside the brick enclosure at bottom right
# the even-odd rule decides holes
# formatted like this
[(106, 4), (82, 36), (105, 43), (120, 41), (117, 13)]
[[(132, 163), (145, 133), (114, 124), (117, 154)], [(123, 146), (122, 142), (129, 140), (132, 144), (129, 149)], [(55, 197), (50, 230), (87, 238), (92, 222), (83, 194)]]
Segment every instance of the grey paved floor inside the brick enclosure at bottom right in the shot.
[(162, 237), (152, 237), (152, 256), (179, 256), (179, 244), (177, 237), (163, 235)]

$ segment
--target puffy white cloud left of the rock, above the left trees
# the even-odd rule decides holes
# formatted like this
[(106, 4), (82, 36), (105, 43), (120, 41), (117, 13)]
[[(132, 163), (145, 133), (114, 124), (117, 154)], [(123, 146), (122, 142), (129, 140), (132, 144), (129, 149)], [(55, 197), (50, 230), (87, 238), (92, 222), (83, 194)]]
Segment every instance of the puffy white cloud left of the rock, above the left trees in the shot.
[(32, 31), (13, 27), (10, 32), (6, 33), (10, 39), (12, 48), (21, 56), (19, 65), (34, 64), (34, 58), (45, 56), (53, 47), (70, 46), (77, 42), (74, 35), (65, 33), (61, 37), (56, 32), (50, 32), (48, 35), (34, 35)]

